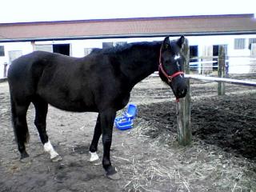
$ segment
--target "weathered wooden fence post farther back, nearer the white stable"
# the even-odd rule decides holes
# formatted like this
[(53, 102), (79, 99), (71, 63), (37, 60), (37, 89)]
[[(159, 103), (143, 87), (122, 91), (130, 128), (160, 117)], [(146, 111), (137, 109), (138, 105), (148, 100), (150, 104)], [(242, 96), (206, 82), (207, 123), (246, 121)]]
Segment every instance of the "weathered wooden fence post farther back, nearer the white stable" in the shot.
[[(218, 77), (226, 78), (226, 53), (224, 46), (219, 46), (218, 48)], [(218, 82), (218, 95), (224, 95), (225, 90), (225, 82)]]

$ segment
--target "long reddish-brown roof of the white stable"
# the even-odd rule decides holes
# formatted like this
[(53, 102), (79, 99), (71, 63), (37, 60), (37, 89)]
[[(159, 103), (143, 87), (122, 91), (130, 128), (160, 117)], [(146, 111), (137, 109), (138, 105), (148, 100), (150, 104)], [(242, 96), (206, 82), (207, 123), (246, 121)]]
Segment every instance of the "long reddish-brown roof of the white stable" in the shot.
[(254, 14), (0, 24), (0, 42), (165, 35), (256, 34)]

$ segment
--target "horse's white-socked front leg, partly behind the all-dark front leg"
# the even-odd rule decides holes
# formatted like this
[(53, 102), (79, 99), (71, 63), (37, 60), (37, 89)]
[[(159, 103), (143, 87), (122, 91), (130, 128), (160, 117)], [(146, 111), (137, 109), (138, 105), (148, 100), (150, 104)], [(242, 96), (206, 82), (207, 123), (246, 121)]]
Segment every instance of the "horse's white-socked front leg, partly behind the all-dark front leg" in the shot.
[(94, 128), (94, 138), (90, 144), (90, 162), (93, 162), (94, 165), (99, 165), (101, 162), (99, 161), (97, 150), (98, 150), (98, 140), (102, 135), (102, 127), (100, 114), (98, 114), (97, 122)]

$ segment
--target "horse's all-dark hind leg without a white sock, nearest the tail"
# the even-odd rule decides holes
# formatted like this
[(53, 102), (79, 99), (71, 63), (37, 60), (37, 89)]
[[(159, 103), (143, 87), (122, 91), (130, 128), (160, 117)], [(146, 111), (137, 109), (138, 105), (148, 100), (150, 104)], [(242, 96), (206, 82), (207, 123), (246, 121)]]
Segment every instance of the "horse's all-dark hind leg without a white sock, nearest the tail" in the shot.
[(21, 154), (21, 160), (29, 157), (29, 154), (26, 152), (25, 144), (29, 141), (30, 134), (26, 123), (26, 111), (29, 102), (24, 103), (23, 105), (16, 104), (11, 98), (11, 112), (14, 125), (14, 135), (18, 144), (18, 151)]

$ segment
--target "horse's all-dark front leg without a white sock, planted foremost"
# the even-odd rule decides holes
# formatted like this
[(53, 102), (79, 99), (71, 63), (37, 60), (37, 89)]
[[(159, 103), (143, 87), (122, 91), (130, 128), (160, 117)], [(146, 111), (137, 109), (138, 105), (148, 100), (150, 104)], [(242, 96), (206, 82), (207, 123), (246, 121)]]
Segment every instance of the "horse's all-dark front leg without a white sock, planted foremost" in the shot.
[(114, 118), (116, 116), (115, 110), (106, 110), (100, 114), (102, 126), (102, 143), (103, 143), (103, 159), (102, 166), (106, 170), (106, 177), (111, 179), (119, 179), (120, 176), (115, 170), (115, 167), (110, 162), (110, 147), (112, 142), (112, 133)]

